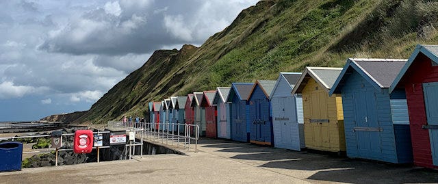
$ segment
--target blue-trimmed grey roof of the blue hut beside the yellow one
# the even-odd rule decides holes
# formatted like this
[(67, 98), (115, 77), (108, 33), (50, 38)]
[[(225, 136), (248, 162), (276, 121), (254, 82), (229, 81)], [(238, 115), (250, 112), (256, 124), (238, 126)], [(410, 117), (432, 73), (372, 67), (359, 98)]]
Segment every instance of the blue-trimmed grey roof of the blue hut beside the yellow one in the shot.
[(351, 74), (349, 70), (356, 70), (357, 73), (370, 82), (376, 89), (389, 88), (406, 62), (407, 60), (398, 59), (349, 58), (329, 94), (341, 92), (344, 81)]

